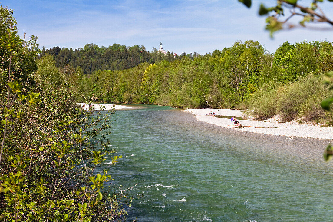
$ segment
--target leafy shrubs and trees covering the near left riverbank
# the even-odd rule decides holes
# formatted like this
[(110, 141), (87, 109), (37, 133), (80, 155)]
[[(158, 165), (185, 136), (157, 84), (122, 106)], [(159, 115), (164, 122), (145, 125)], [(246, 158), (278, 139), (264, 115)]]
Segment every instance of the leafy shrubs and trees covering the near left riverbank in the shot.
[[(37, 38), (23, 42), (16, 34), (3, 34), (0, 48), (1, 220), (122, 220), (124, 193), (105, 193), (113, 111), (81, 111), (74, 86), (82, 84), (82, 70), (59, 71), (45, 55), (35, 72)], [(112, 156), (112, 164), (120, 158)]]

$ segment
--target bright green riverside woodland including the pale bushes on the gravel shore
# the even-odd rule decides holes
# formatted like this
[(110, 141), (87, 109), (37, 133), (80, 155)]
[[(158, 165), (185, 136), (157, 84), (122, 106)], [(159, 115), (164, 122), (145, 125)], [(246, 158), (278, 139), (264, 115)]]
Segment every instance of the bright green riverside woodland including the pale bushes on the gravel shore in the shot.
[[(320, 106), (332, 94), (322, 80), (333, 70), (330, 42), (284, 42), (270, 53), (257, 41), (236, 41), (229, 48), (195, 57), (182, 53), (172, 61), (159, 56), (155, 63), (90, 74), (71, 64), (59, 68), (67, 82), (79, 82), (78, 101), (237, 108), (251, 110), (258, 119), (280, 114), (285, 121), (302, 116), (306, 121), (331, 120)], [(44, 59), (54, 62), (48, 55), (39, 62)]]

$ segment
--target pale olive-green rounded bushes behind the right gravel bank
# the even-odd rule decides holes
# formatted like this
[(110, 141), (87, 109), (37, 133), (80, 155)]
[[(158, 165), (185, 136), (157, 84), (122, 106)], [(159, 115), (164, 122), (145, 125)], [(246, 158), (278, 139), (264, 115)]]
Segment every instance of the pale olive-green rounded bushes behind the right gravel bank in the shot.
[(260, 120), (280, 115), (285, 122), (300, 117), (305, 122), (330, 120), (332, 114), (320, 105), (330, 94), (322, 77), (314, 74), (285, 85), (271, 81), (252, 94), (247, 115)]

